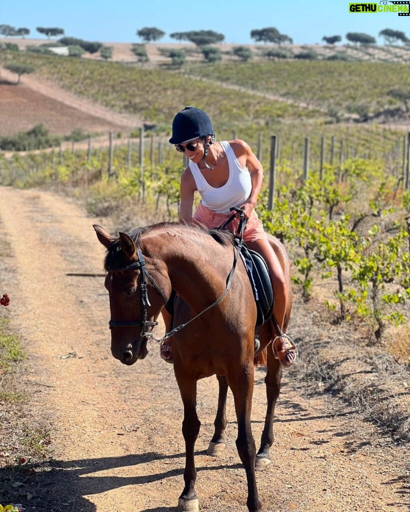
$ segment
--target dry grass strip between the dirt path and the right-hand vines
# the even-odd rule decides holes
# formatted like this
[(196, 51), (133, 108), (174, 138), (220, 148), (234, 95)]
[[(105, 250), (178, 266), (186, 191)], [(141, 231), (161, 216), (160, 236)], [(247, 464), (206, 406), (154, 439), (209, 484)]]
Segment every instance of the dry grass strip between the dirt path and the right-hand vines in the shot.
[(295, 309), (291, 328), (300, 336), (295, 378), (311, 393), (337, 395), (395, 440), (410, 441), (407, 367), (382, 346), (369, 346), (365, 330), (331, 325), (318, 311), (301, 312), (301, 305)]

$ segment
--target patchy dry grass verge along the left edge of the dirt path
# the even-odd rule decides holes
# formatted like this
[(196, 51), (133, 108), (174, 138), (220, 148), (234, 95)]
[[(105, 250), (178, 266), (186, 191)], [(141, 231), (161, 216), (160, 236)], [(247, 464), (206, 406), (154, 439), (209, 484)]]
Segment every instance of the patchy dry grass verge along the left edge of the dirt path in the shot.
[[(12, 253), (0, 225), (0, 274), (2, 293), (12, 286)], [(10, 292), (9, 292), (9, 295)], [(49, 460), (51, 421), (39, 416), (27, 390), (25, 353), (10, 318), (16, 307), (0, 310), (0, 503), (20, 503), (36, 493), (33, 475)], [(34, 466), (36, 469), (34, 470)]]

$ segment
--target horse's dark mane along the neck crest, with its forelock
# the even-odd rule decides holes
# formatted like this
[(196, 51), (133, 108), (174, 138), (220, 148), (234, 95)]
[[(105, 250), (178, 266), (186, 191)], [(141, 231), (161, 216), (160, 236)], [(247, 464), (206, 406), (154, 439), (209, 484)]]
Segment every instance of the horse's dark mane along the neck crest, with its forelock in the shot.
[[(197, 233), (204, 234), (212, 237), (218, 244), (222, 246), (232, 246), (234, 243), (233, 234), (226, 229), (208, 229), (205, 226), (198, 224), (184, 224), (181, 222), (160, 222), (151, 226), (137, 227), (132, 229), (127, 234), (137, 247), (140, 246), (141, 237), (143, 234), (159, 231), (161, 229), (172, 229), (178, 231), (195, 231)], [(119, 247), (119, 239), (114, 240), (108, 247), (106, 257), (104, 260), (104, 268), (111, 272), (120, 272), (122, 268), (125, 268), (129, 264), (124, 252)]]

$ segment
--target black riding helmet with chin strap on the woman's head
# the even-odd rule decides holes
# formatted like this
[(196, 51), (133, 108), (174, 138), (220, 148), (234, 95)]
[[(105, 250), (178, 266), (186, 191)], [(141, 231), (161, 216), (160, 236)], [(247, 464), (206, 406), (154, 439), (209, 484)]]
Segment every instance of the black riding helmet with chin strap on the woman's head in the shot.
[[(208, 135), (211, 136), (210, 142), (207, 142)], [(188, 105), (174, 117), (170, 143), (183, 144), (198, 138), (201, 138), (205, 143), (203, 163), (209, 169), (212, 169), (213, 167), (210, 167), (205, 161), (208, 156), (208, 146), (215, 140), (211, 119), (203, 110)]]

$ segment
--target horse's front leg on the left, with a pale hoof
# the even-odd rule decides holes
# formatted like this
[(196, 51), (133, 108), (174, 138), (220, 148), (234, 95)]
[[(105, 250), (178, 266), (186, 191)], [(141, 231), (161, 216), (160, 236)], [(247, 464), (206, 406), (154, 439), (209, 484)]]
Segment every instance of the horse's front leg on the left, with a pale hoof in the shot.
[(185, 487), (178, 499), (178, 512), (197, 512), (198, 497), (195, 492), (196, 467), (194, 459), (195, 441), (201, 423), (196, 414), (196, 380), (175, 369), (179, 391), (183, 402), (182, 434), (185, 439)]

